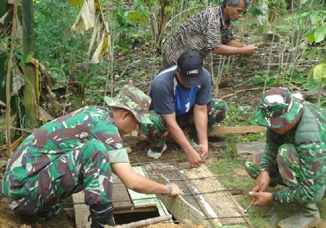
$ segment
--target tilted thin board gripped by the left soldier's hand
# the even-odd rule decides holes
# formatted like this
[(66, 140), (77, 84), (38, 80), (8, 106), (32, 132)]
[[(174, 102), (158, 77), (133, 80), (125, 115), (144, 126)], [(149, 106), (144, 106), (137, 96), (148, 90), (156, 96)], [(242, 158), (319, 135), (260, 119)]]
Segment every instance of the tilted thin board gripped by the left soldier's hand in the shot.
[[(159, 175), (158, 182), (166, 184), (169, 180), (163, 175)], [(156, 196), (179, 222), (185, 223), (186, 220), (191, 220), (195, 225), (204, 224), (204, 214), (194, 206), (188, 204), (182, 196), (169, 197), (161, 194), (157, 194)]]

